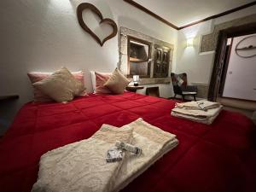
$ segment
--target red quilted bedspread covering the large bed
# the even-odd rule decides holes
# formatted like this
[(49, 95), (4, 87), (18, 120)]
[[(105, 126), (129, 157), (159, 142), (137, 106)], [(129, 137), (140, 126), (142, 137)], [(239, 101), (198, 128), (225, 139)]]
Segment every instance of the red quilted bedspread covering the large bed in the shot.
[(174, 103), (130, 92), (27, 103), (0, 140), (0, 191), (30, 191), (42, 154), (90, 137), (103, 123), (122, 126), (139, 117), (176, 134), (180, 143), (123, 191), (256, 191), (251, 120), (222, 111), (212, 125), (202, 125), (172, 117)]

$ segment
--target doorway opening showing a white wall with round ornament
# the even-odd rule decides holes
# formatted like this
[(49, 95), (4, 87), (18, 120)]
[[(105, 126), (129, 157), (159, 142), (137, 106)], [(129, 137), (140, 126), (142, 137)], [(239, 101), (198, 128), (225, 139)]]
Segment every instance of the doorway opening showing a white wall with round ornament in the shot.
[(230, 41), (230, 55), (220, 82), (224, 88), (218, 96), (256, 102), (256, 33)]

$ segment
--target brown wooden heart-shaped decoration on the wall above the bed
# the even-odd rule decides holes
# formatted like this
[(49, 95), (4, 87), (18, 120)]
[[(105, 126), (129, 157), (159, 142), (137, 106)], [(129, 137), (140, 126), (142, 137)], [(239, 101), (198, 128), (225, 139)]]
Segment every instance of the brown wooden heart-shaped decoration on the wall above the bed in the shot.
[[(90, 30), (90, 28), (84, 23), (83, 11), (85, 9), (90, 9), (90, 11), (95, 13), (100, 18), (100, 25), (102, 23), (105, 23), (105, 24), (108, 24), (109, 26), (112, 26), (113, 32), (111, 34), (109, 34), (106, 38), (103, 38), (103, 40), (101, 40), (99, 37), (97, 37), (96, 34), (94, 32), (92, 32)], [(103, 19), (102, 13), (93, 4), (90, 4), (90, 3), (81, 3), (81, 4), (79, 4), (78, 9), (77, 9), (77, 16), (78, 16), (78, 19), (79, 19), (80, 26), (84, 29), (85, 32), (88, 32), (90, 34), (90, 36), (92, 38), (94, 38), (96, 40), (96, 42), (99, 43), (101, 46), (103, 46), (103, 44), (106, 41), (108, 41), (108, 39), (113, 38), (117, 34), (118, 27), (117, 27), (116, 23), (113, 20), (109, 19), (109, 18)]]

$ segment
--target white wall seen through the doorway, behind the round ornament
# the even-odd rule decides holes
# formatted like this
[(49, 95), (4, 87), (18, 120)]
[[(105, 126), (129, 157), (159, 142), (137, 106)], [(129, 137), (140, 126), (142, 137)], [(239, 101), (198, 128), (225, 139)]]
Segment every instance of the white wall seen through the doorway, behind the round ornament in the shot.
[[(252, 34), (254, 38), (248, 38), (241, 42), (239, 48), (256, 44), (256, 33)], [(247, 99), (256, 101), (256, 56), (251, 58), (242, 58), (236, 55), (236, 44), (243, 38), (252, 35), (233, 38), (233, 44), (230, 53), (229, 67), (224, 84), (223, 96)], [(242, 55), (255, 55), (256, 50), (240, 51)], [(255, 89), (255, 90), (254, 90)]]

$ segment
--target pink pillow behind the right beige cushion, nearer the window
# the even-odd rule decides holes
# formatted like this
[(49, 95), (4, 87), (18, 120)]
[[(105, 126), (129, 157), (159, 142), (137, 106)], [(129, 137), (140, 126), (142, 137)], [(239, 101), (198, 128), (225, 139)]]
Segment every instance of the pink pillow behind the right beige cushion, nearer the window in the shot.
[(111, 90), (108, 89), (104, 84), (108, 81), (111, 74), (108, 73), (98, 73), (95, 72), (96, 75), (96, 94), (110, 94)]

